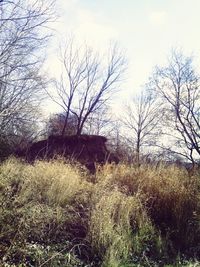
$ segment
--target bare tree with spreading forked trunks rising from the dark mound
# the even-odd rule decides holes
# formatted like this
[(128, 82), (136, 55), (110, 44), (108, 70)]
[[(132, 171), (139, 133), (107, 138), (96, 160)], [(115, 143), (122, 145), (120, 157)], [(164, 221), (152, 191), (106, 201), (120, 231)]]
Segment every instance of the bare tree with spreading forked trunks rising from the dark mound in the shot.
[(89, 117), (104, 108), (119, 89), (126, 62), (116, 45), (106, 60), (87, 46), (77, 48), (73, 40), (66, 45), (61, 61), (64, 71), (57, 83), (58, 98), (53, 99), (66, 113), (63, 134), (73, 114), (77, 118), (76, 134), (80, 135)]

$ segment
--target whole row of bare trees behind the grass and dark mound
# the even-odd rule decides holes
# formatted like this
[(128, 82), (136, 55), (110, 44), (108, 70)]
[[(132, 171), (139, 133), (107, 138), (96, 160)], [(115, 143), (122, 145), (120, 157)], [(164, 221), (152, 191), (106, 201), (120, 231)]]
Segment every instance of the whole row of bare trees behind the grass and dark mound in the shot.
[(200, 78), (193, 58), (173, 50), (168, 63), (155, 67), (143, 90), (113, 117), (110, 103), (122, 90), (127, 69), (116, 44), (101, 55), (73, 38), (63, 42), (62, 73), (49, 90), (41, 55), (53, 38), (47, 27), (53, 10), (50, 1), (0, 2), (0, 157), (39, 138), (39, 110), (49, 97), (62, 112), (50, 117), (43, 137), (103, 134), (118, 155), (138, 164), (153, 155), (199, 163)]

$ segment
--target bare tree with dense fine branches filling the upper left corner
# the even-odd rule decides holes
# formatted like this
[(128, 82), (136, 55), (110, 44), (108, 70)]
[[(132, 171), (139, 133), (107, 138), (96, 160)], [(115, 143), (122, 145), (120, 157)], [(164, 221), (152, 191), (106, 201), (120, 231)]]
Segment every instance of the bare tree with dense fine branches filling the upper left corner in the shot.
[(36, 119), (45, 86), (41, 48), (49, 37), (45, 27), (52, 18), (52, 4), (48, 4), (0, 2), (0, 135), (17, 135)]

